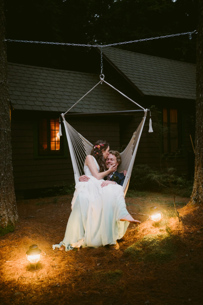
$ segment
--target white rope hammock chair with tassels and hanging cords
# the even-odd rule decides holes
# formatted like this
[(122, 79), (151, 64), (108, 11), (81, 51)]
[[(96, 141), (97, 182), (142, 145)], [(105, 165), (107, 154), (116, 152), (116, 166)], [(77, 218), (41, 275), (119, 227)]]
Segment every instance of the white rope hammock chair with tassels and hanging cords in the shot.
[[(142, 106), (140, 106), (139, 104), (134, 102), (132, 99), (130, 99), (129, 97), (124, 95), (122, 92), (120, 92), (119, 90), (114, 88), (112, 85), (107, 83), (104, 80), (103, 74), (100, 75), (100, 81), (98, 82), (98, 84), (102, 84), (102, 82), (104, 82), (105, 84), (109, 85), (110, 87), (112, 87), (113, 89), (118, 91), (121, 95), (123, 95), (124, 97), (129, 99), (131, 102), (135, 103), (137, 106), (142, 108), (144, 111), (144, 117), (142, 118), (140, 125), (137, 127), (137, 130), (134, 132), (126, 149), (120, 153), (121, 163), (118, 166), (117, 170), (118, 171), (127, 170), (127, 174), (126, 174), (126, 177), (125, 177), (125, 180), (123, 183), (123, 192), (124, 192), (124, 194), (126, 194), (128, 185), (129, 185), (129, 181), (130, 181), (130, 175), (131, 175), (134, 160), (135, 160), (135, 156), (137, 153), (137, 147), (138, 147), (138, 144), (140, 141), (140, 137), (141, 137), (141, 133), (142, 133), (142, 130), (144, 127), (144, 122), (145, 122), (145, 119), (147, 116), (148, 109), (144, 109)], [(83, 99), (96, 86), (98, 86), (98, 84), (96, 84), (90, 91), (88, 91), (81, 99)], [(70, 109), (72, 109), (78, 102), (80, 102), (81, 99), (79, 99)], [(66, 111), (66, 113), (69, 112), (70, 109), (68, 109)], [(140, 110), (137, 110), (137, 111), (140, 111)], [(77, 183), (77, 182), (79, 182), (79, 180), (78, 180), (79, 177), (84, 174), (83, 168), (84, 168), (85, 158), (87, 155), (89, 155), (91, 153), (93, 144), (91, 144), (89, 141), (87, 141), (87, 139), (85, 139), (82, 135), (80, 135), (70, 124), (68, 124), (68, 122), (66, 122), (66, 120), (65, 120), (66, 113), (62, 113), (61, 116), (62, 116), (64, 127), (66, 130), (66, 136), (67, 136), (67, 140), (68, 140), (70, 156), (71, 156), (71, 160), (73, 163), (75, 182)], [(151, 118), (150, 118), (149, 132), (153, 132), (153, 130), (151, 128)], [(59, 125), (59, 136), (61, 136), (61, 135), (62, 135), (61, 125)]]

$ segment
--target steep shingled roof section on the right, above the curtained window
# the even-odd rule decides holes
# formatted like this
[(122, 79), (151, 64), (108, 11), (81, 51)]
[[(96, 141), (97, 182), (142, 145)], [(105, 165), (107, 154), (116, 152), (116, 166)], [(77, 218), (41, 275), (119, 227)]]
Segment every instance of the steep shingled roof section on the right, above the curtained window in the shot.
[(196, 98), (196, 65), (118, 48), (103, 48), (104, 57), (143, 95)]

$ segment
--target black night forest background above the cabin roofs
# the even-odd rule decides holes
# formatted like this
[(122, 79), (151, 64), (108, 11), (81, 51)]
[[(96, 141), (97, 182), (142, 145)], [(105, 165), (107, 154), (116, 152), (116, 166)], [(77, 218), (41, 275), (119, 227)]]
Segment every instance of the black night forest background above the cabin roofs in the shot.
[[(79, 44), (115, 43), (196, 29), (192, 0), (7, 0), (7, 38)], [(195, 62), (195, 34), (119, 46)], [(9, 62), (100, 73), (95, 48), (7, 42)]]

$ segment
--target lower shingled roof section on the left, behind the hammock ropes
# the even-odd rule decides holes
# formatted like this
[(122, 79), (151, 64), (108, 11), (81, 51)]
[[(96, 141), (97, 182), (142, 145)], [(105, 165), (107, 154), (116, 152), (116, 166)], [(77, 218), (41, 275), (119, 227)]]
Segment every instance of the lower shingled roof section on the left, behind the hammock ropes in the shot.
[[(66, 112), (100, 81), (99, 76), (8, 63), (9, 95), (14, 109)], [(71, 112), (106, 112), (135, 109), (134, 104), (99, 84)]]

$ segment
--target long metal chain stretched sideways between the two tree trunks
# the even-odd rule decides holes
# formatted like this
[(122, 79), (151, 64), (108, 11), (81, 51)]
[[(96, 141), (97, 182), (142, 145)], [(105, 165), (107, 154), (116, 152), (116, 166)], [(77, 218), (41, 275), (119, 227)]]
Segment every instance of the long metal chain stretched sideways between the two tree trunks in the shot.
[[(166, 36), (159, 36), (159, 37), (152, 37), (152, 38), (145, 38), (145, 39), (138, 39), (138, 40), (131, 40), (131, 41), (125, 41), (125, 42), (119, 42), (119, 43), (112, 43), (109, 45), (103, 45), (104, 47), (111, 47), (113, 45), (124, 45), (127, 43), (133, 43), (133, 42), (139, 42), (139, 41), (148, 41), (148, 40), (154, 40), (154, 39), (160, 39), (160, 38), (168, 38), (168, 37), (175, 37), (180, 35), (189, 35), (189, 39), (191, 40), (192, 35), (191, 34), (197, 34), (198, 32), (194, 30), (193, 32), (187, 32), (187, 33), (181, 33), (181, 34), (172, 34), (172, 35), (166, 35)], [(30, 42), (30, 43), (41, 43), (41, 44), (47, 44), (47, 45), (75, 45), (80, 47), (101, 47), (102, 45), (80, 45), (76, 43), (62, 43), (62, 42), (48, 42), (48, 41), (28, 41), (28, 40), (16, 40), (16, 39), (5, 39), (4, 41), (14, 41), (14, 42)]]

